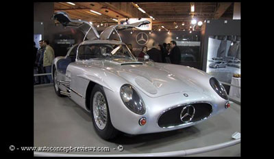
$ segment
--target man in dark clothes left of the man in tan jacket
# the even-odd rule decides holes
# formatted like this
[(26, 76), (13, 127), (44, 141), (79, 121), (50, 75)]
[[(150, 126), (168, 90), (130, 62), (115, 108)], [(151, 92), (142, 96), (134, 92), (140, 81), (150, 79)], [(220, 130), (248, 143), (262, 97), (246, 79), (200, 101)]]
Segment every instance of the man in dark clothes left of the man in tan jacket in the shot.
[[(44, 74), (44, 68), (43, 68), (43, 59), (44, 59), (44, 51), (45, 51), (45, 46), (43, 40), (39, 41), (39, 46), (40, 48), (37, 51), (37, 56), (36, 56), (36, 64), (38, 67), (38, 74)], [(45, 76), (38, 76), (39, 77), (39, 83), (44, 84), (45, 81)]]

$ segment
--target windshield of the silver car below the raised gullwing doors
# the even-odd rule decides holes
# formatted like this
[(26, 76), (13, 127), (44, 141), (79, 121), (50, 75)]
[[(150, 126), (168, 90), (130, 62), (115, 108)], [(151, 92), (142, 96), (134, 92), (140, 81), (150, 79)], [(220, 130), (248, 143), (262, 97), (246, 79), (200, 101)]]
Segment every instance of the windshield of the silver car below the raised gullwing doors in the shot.
[(86, 44), (79, 46), (78, 59), (94, 58), (135, 59), (124, 44)]

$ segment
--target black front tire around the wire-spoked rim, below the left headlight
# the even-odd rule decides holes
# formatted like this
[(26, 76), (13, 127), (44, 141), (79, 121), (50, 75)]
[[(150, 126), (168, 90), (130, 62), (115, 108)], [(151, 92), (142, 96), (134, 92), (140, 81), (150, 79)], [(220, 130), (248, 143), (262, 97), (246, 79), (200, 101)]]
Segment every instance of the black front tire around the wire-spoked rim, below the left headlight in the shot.
[[(93, 105), (92, 105), (93, 98), (95, 96), (95, 93), (97, 92), (100, 92), (103, 95), (103, 98), (105, 99), (105, 107), (108, 112), (107, 121), (106, 121), (105, 127), (102, 130), (97, 126), (95, 122), (95, 115), (93, 112)], [(108, 100), (105, 97), (105, 92), (103, 91), (103, 87), (101, 87), (100, 85), (95, 85), (95, 87), (93, 87), (92, 89), (92, 92), (90, 95), (90, 114), (92, 117), (92, 123), (95, 128), (95, 131), (102, 139), (105, 139), (105, 140), (114, 139), (119, 134), (119, 131), (112, 126), (112, 122), (110, 120), (110, 109), (108, 109)]]

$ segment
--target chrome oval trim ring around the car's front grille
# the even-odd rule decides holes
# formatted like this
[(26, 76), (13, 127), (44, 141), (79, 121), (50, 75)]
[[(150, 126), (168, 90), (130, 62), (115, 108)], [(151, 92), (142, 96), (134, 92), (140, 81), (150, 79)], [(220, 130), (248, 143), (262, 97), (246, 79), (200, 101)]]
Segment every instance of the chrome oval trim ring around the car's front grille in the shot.
[[(210, 104), (210, 105), (212, 106), (212, 111), (211, 111), (210, 115), (208, 115), (208, 117), (210, 117), (210, 116), (212, 115), (212, 112), (213, 112), (213, 105), (212, 105), (210, 102), (190, 102), (190, 103), (186, 103), (186, 104), (179, 104), (179, 105), (177, 105), (177, 106), (171, 106), (169, 109), (166, 109), (166, 110), (162, 111), (162, 113), (159, 115), (159, 117), (158, 117), (158, 119), (157, 119), (157, 125), (159, 126), (158, 122), (159, 122), (160, 117), (161, 117), (164, 113), (166, 113), (167, 111), (171, 111), (171, 109), (176, 109), (176, 108), (179, 107), (179, 106), (187, 106), (187, 105), (190, 105), (190, 104), (199, 104), (199, 103), (206, 103), (206, 104)], [(201, 120), (199, 120), (199, 121), (189, 122), (189, 123), (186, 123), (186, 124), (180, 124), (180, 125), (177, 125), (177, 126), (169, 126), (169, 127), (161, 127), (161, 126), (159, 126), (159, 127), (160, 127), (160, 128), (166, 129), (166, 128), (176, 128), (176, 127), (179, 127), (179, 126), (186, 126), (186, 125), (189, 125), (189, 124), (198, 123), (198, 122), (200, 122), (200, 121), (203, 121), (203, 120), (205, 120), (205, 119), (208, 119), (208, 117), (205, 117), (205, 118), (203, 118), (203, 119), (201, 119)]]

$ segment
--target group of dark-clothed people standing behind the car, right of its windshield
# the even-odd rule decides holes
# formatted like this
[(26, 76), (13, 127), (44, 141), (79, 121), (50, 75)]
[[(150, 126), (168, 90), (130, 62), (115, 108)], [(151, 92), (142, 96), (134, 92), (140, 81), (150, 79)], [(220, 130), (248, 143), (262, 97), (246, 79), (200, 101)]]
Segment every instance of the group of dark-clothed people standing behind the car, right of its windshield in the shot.
[[(127, 44), (127, 46), (132, 48), (131, 44)], [(169, 44), (164, 43), (162, 45), (158, 44), (158, 42), (153, 42), (152, 48), (149, 50), (147, 46), (143, 46), (142, 51), (136, 57), (144, 58), (145, 55), (149, 55), (149, 59), (161, 63), (179, 64), (181, 61), (181, 52), (177, 43), (173, 40)]]

